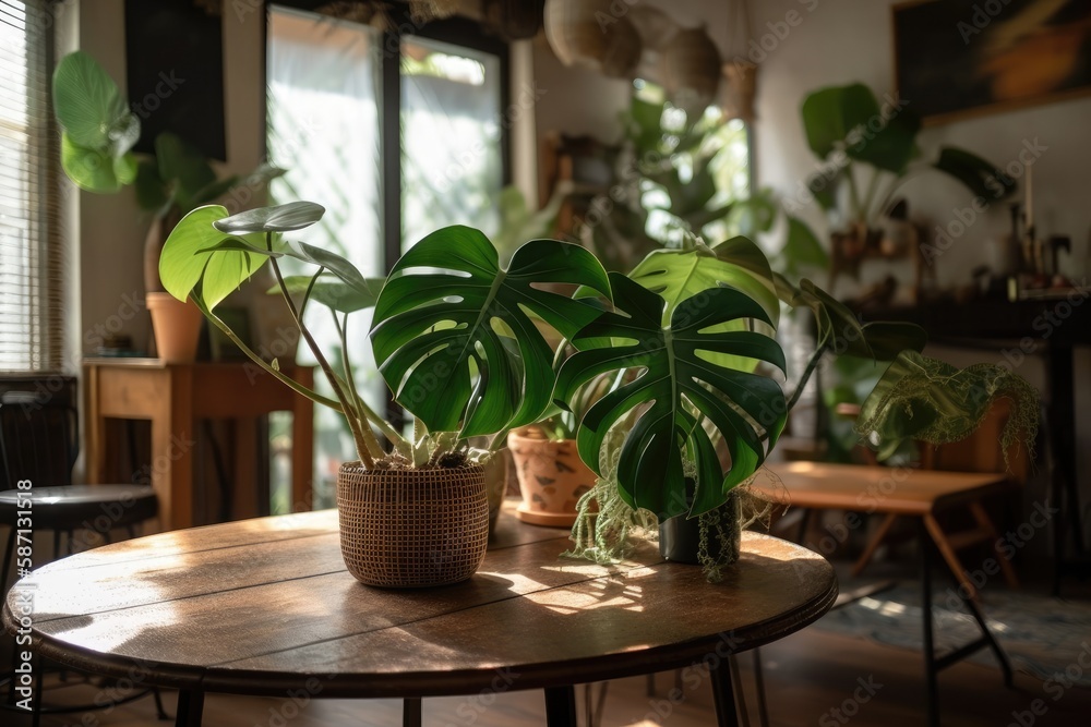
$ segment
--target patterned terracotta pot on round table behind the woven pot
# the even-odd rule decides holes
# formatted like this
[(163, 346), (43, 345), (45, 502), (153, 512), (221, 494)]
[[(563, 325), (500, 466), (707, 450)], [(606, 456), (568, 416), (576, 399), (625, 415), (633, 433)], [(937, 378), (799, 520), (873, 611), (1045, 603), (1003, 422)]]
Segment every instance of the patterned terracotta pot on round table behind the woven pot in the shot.
[(573, 439), (507, 435), (523, 502), (516, 517), (535, 525), (567, 528), (576, 522), (576, 502), (595, 485), (595, 473), (584, 464)]

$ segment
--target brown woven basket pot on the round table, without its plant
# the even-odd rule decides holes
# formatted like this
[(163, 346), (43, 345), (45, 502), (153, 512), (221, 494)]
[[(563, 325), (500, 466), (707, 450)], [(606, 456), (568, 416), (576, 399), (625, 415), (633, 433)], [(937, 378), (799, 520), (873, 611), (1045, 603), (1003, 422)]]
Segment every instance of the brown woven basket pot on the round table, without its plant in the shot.
[(465, 581), (489, 542), (480, 465), (337, 472), (341, 556), (368, 585), (421, 589)]

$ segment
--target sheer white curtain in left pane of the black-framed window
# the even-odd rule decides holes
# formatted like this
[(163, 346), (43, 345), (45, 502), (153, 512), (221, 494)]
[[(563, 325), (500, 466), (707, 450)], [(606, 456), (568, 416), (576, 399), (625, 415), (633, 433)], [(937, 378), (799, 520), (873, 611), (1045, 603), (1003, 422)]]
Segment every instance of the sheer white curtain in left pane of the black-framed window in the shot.
[[(286, 8), (269, 10), (268, 152), (288, 170), (271, 186), (274, 204), (307, 199), (326, 208), (298, 239), (349, 258), (364, 276), (383, 275), (380, 35), (368, 25)], [(328, 311), (313, 306), (308, 327), (324, 353), (337, 347)], [(382, 410), (381, 378), (368, 341), (370, 311), (349, 318), (349, 352), (361, 393)], [(299, 361), (313, 363), (305, 347)], [(332, 362), (334, 363), (334, 362)], [(317, 379), (324, 379), (317, 375)], [(325, 381), (323, 380), (324, 385)], [(315, 507), (332, 505), (340, 462), (355, 459), (339, 414), (315, 409)]]

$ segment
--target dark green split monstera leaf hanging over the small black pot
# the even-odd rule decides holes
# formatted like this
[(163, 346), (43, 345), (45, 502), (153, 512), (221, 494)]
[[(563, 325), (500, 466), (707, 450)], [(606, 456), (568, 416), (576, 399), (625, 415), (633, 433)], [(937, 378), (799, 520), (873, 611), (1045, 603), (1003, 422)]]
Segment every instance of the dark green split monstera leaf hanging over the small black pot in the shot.
[[(706, 512), (755, 472), (786, 420), (784, 397), (775, 380), (711, 361), (729, 353), (783, 371), (777, 341), (754, 331), (715, 329), (743, 318), (771, 320), (746, 294), (711, 288), (681, 301), (664, 327), (661, 295), (619, 274), (610, 281), (620, 313), (604, 313), (576, 334), (573, 343), (580, 350), (561, 367), (554, 400), (566, 407), (576, 389), (599, 374), (638, 372), (588, 410), (576, 435), (579, 456), (601, 475), (599, 452), (608, 432), (631, 426), (616, 472), (622, 497), (660, 518)], [(727, 474), (708, 428), (723, 437), (731, 453)], [(686, 460), (696, 472), (692, 507)]]

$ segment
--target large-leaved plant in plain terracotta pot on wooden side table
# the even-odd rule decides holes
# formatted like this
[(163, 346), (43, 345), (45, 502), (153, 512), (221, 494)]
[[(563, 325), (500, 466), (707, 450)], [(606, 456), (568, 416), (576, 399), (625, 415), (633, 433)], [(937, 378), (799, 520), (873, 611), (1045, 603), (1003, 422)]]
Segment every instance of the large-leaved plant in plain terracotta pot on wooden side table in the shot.
[(140, 207), (153, 215), (144, 243), (144, 292), (156, 351), (168, 361), (192, 361), (201, 313), (175, 301), (159, 282), (159, 251), (167, 233), (191, 209), (237, 185), (264, 185), (284, 171), (268, 165), (242, 175), (217, 177), (208, 159), (176, 134), (155, 138), (155, 155), (137, 158), (132, 147), (140, 119), (113, 80), (83, 51), (67, 54), (53, 71), (53, 110), (61, 126), (61, 167), (76, 186), (113, 194), (132, 184)]

